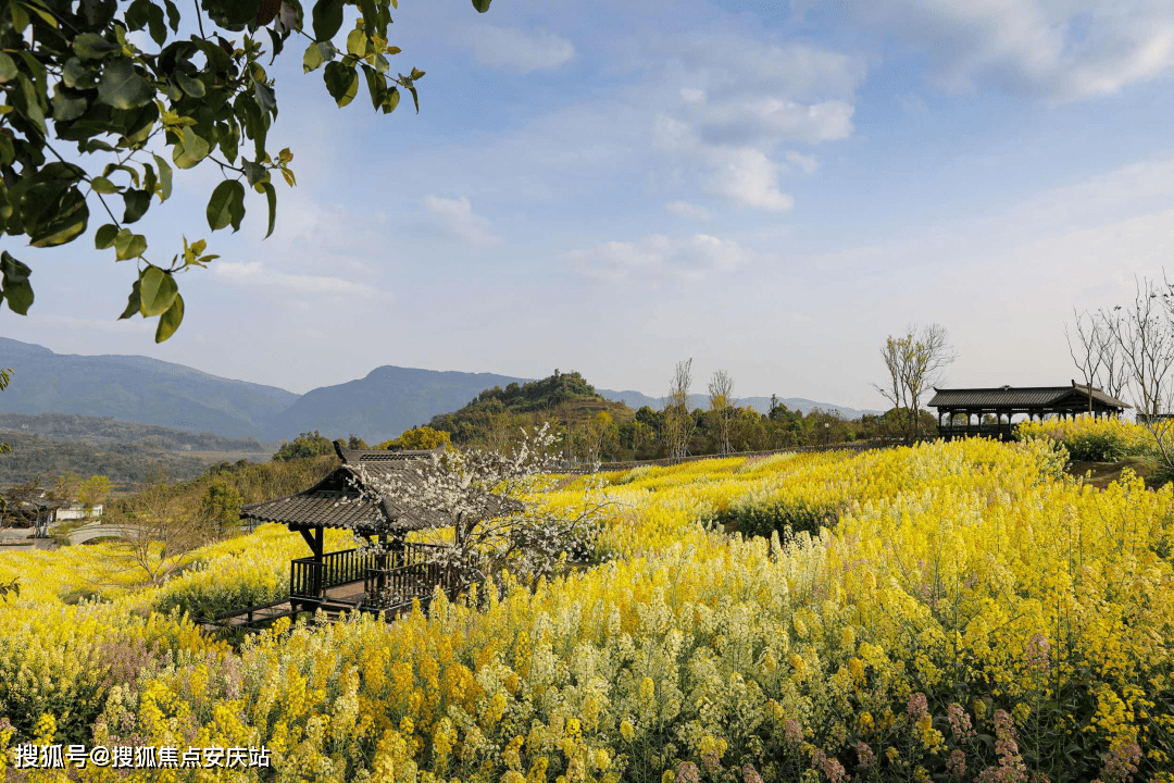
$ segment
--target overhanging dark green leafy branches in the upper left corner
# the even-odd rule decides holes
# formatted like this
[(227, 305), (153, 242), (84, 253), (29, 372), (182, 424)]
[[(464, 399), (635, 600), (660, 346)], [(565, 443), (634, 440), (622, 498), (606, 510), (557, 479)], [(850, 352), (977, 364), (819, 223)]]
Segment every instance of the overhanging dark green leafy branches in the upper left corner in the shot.
[[(358, 20), (339, 49), (346, 6)], [(0, 236), (62, 245), (89, 230), (92, 210), (100, 214), (95, 247), (137, 266), (121, 317), (158, 317), (155, 340), (168, 339), (183, 320), (180, 275), (217, 256), (204, 239), (184, 238), (170, 262), (148, 259), (147, 237), (131, 227), (171, 196), (176, 169), (205, 164), (222, 177), (205, 209), (209, 230), (238, 230), (256, 203), (266, 210), (265, 236), (274, 232), (275, 177), (296, 180), (294, 154), (269, 149), (277, 93), (266, 67), (291, 36), (308, 41), (303, 69), (322, 69), (339, 107), (362, 82), (377, 112), (393, 112), (400, 90), (419, 112), (424, 72), (391, 68), (400, 52), (387, 40), (396, 6), (202, 0), (181, 11), (173, 0), (0, 0)], [(485, 12), (490, 0), (473, 6)], [(146, 36), (133, 35), (140, 31)], [(0, 301), (13, 312), (33, 304), (31, 276), (0, 251)]]

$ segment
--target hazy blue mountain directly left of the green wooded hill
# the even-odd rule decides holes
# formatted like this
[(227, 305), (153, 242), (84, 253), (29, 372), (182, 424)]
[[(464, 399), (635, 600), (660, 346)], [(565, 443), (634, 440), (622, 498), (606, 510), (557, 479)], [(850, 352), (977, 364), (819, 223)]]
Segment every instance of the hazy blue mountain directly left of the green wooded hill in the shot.
[(438, 413), (456, 411), (486, 389), (525, 382), (490, 372), (439, 372), (386, 365), (365, 378), (323, 386), (265, 423), (266, 438), (318, 430), (330, 438), (351, 433), (370, 443), (398, 438)]

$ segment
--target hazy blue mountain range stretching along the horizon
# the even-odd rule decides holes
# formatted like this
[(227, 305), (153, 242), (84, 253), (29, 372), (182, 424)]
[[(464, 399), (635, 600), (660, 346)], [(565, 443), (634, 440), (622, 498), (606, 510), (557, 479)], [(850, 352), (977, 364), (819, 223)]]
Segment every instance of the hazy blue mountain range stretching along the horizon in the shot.
[[(142, 356), (55, 353), (41, 345), (0, 337), (0, 369), (12, 367), (12, 384), (0, 393), (0, 413), (70, 413), (112, 417), (227, 438), (288, 440), (317, 430), (335, 438), (356, 433), (376, 443), (454, 411), (483, 390), (525, 383), (488, 372), (440, 372), (385, 365), (363, 378), (296, 394), (276, 386), (212, 376), (182, 364)], [(632, 409), (661, 407), (636, 391), (598, 390)], [(697, 407), (702, 394), (691, 396)], [(862, 411), (802, 398), (781, 399), (792, 410)], [(767, 412), (770, 399), (738, 400)], [(869, 412), (869, 411), (863, 411)]]

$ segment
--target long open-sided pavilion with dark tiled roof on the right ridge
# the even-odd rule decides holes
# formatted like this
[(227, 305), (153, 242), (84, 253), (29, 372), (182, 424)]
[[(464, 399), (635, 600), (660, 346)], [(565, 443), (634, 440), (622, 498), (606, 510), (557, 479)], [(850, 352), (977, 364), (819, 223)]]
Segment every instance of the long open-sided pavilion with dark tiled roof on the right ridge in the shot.
[[(1104, 390), (1072, 382), (1071, 386), (999, 386), (998, 389), (933, 389), (929, 407), (938, 411), (938, 436), (945, 439), (967, 436), (1014, 437), (1012, 417), (1073, 418), (1081, 413), (1094, 417), (1121, 416), (1127, 404)], [(993, 416), (994, 421), (984, 423)], [(965, 417), (959, 423), (958, 418)], [(1023, 419), (1020, 419), (1023, 420)]]

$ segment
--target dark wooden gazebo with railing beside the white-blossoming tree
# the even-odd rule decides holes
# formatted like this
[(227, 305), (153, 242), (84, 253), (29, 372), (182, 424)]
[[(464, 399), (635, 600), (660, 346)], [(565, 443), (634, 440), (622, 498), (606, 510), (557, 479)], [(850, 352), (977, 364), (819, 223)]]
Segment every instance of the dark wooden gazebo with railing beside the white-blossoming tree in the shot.
[[(289, 603), (295, 610), (397, 613), (413, 599), (427, 603), (439, 586), (450, 594), (460, 589), (460, 574), (433, 562), (436, 545), (410, 542), (405, 536), (425, 528), (452, 527), (445, 513), (409, 501), (369, 499), (362, 484), (367, 475), (399, 472), (411, 486), (423, 481), (420, 471), (433, 465), (437, 451), (351, 450), (335, 445), (343, 464), (316, 485), (284, 498), (245, 506), (242, 519), (286, 525), (305, 539), (310, 556), (290, 562)], [(363, 472), (359, 467), (364, 468)], [(359, 548), (325, 552), (325, 528), (346, 528), (373, 541), (385, 553)]]

